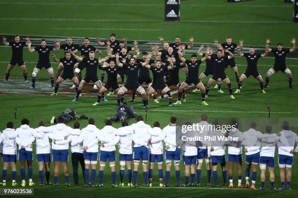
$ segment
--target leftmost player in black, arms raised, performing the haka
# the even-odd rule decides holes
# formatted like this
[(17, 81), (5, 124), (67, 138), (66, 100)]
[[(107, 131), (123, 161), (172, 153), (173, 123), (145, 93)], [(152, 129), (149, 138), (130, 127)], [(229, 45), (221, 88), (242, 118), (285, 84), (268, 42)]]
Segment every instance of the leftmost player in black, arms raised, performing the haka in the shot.
[(27, 75), (27, 71), (26, 71), (26, 66), (25, 66), (25, 63), (23, 60), (23, 48), (24, 48), (24, 46), (29, 44), (28, 43), (29, 37), (27, 37), (26, 39), (27, 39), (27, 42), (22, 42), (22, 41), (20, 41), (19, 35), (15, 35), (15, 41), (7, 42), (6, 37), (2, 36), (3, 45), (11, 46), (11, 49), (12, 49), (12, 56), (11, 56), (8, 66), (7, 66), (7, 70), (5, 72), (5, 80), (3, 81), (3, 83), (8, 82), (10, 71), (14, 68), (14, 66), (16, 66), (16, 64), (19, 65), (19, 68), (23, 72), (23, 77), (25, 79), (25, 83), (26, 84), (29, 83), (29, 81), (27, 80), (28, 75)]

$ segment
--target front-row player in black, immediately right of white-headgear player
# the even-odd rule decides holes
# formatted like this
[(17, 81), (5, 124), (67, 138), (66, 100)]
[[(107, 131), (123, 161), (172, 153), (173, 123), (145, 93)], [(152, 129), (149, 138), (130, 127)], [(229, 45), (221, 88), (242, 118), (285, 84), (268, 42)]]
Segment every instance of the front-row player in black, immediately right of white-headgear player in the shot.
[[(98, 95), (97, 95), (97, 101), (93, 104), (93, 106), (99, 105), (102, 94), (105, 93), (106, 91), (112, 90), (112, 91), (118, 92), (120, 89), (118, 82), (117, 82), (117, 75), (118, 75), (117, 73), (118, 73), (118, 70), (122, 69), (122, 68), (117, 67), (114, 60), (110, 61), (109, 66), (103, 67), (99, 64), (98, 68), (100, 70), (104, 70), (107, 72), (108, 80), (107, 80), (107, 83), (105, 83), (105, 85), (103, 85), (101, 87), (101, 89), (99, 90)], [(123, 97), (123, 99), (124, 99), (124, 97)], [(122, 102), (123, 102), (123, 99), (122, 99)]]

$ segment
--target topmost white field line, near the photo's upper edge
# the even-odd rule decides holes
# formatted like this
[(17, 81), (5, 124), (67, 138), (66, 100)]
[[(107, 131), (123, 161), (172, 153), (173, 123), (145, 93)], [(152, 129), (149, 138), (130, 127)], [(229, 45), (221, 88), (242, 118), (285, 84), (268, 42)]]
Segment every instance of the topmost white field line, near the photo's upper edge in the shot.
[[(38, 4), (38, 5), (97, 5), (97, 6), (165, 6), (165, 4), (135, 4), (135, 3), (43, 3), (43, 2), (34, 2), (34, 3), (30, 3), (30, 2), (0, 2), (0, 4), (25, 4), (25, 5), (30, 5), (30, 4)], [(184, 3), (180, 4), (180, 6), (182, 7), (254, 7), (254, 8), (258, 8), (258, 7), (266, 7), (266, 8), (270, 8), (270, 7), (293, 7), (292, 4), (288, 4), (288, 5), (243, 5), (243, 4), (233, 4), (233, 3), (229, 3), (229, 4), (222, 4), (222, 5), (213, 5), (213, 4), (198, 4), (198, 5), (185, 5)]]

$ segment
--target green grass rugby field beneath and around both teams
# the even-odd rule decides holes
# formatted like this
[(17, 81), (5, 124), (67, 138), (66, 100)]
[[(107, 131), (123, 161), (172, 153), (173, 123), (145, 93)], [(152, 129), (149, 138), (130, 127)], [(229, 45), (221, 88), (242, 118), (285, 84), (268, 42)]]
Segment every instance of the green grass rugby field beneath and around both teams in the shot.
[[(291, 47), (290, 39), (297, 37), (298, 26), (293, 21), (293, 5), (283, 3), (283, 0), (253, 0), (241, 3), (227, 3), (226, 0), (187, 0), (181, 2), (180, 22), (164, 21), (164, 1), (163, 0), (16, 0), (0, 1), (2, 12), (0, 12), (0, 35), (20, 34), (20, 35), (39, 35), (42, 36), (69, 36), (109, 38), (110, 33), (116, 33), (116, 39), (128, 37), (130, 40), (143, 40), (158, 42), (158, 36), (162, 35), (168, 42), (173, 42), (176, 35), (182, 38), (182, 42), (188, 42), (188, 38), (193, 35), (195, 43), (213, 43), (213, 39), (219, 39), (220, 43), (225, 41), (226, 35), (232, 35), (233, 42), (238, 43), (240, 38), (244, 39), (244, 46), (263, 46), (266, 38), (272, 39), (272, 46), (282, 42), (285, 47)], [(104, 39), (103, 39), (104, 40)], [(64, 41), (64, 40), (63, 40)], [(64, 41), (65, 42), (65, 41)], [(52, 43), (48, 43), (52, 44)], [(131, 44), (131, 43), (129, 43)], [(199, 44), (195, 44), (199, 47)], [(141, 49), (142, 50), (142, 47)], [(54, 52), (57, 57), (62, 57), (63, 52)], [(24, 49), (24, 60), (30, 78), (32, 70), (37, 62), (37, 53), (29, 53)], [(105, 55), (101, 55), (104, 57)], [(11, 57), (10, 47), (0, 47), (0, 77), (1, 81), (5, 77), (7, 64)], [(186, 56), (189, 58), (189, 54)], [(293, 73), (293, 85), (297, 86), (296, 77), (298, 73), (297, 53), (290, 55), (287, 59), (287, 65)], [(239, 74), (246, 68), (245, 58), (236, 57)], [(273, 65), (272, 57), (261, 58), (258, 63), (258, 70), (263, 79), (268, 69)], [(52, 64), (56, 73), (58, 64)], [(200, 73), (205, 70), (205, 64), (201, 65)], [(233, 71), (226, 70), (233, 89), (235, 91), (237, 82)], [(184, 74), (181, 72), (181, 81), (184, 80)], [(22, 78), (18, 66), (11, 72), (11, 78)], [(105, 77), (106, 78), (106, 77)], [(47, 79), (49, 76), (46, 70), (42, 69), (37, 75), (39, 79)], [(207, 83), (209, 78), (203, 80)], [(29, 79), (30, 80), (30, 79)], [(105, 79), (106, 80), (106, 79)], [(69, 81), (64, 82), (70, 84)], [(29, 88), (30, 85), (28, 85)], [(3, 85), (1, 85), (3, 87)], [(5, 85), (6, 89), (10, 84)], [(48, 89), (48, 87), (45, 87)], [(168, 101), (160, 104), (149, 100), (150, 110), (148, 111), (147, 123), (152, 125), (153, 121), (158, 120), (162, 127), (168, 124), (170, 115), (178, 117), (194, 118), (205, 113), (209, 117), (267, 117), (267, 107), (272, 110), (272, 117), (298, 117), (296, 98), (297, 89), (288, 88), (288, 79), (282, 73), (271, 77), (269, 88), (266, 94), (260, 93), (259, 82), (253, 77), (248, 78), (242, 84), (241, 93), (235, 94), (235, 100), (229, 99), (228, 89), (223, 85), (224, 94), (217, 93), (216, 89), (211, 88), (209, 96), (206, 99), (209, 106), (201, 105), (201, 94), (191, 93), (187, 90), (186, 103), (174, 108), (168, 108)], [(17, 94), (3, 94), (0, 90), (0, 129), (5, 129), (6, 123), (14, 121), (15, 126), (19, 127), (20, 119), (27, 117), (30, 119), (30, 125), (37, 127), (39, 120), (44, 119), (46, 125), (50, 125), (50, 119), (53, 115), (59, 115), (64, 109), (75, 108), (78, 114), (86, 114), (96, 120), (96, 126), (100, 129), (104, 126), (104, 119), (115, 113), (113, 106), (116, 103), (115, 97), (108, 97), (109, 101), (102, 102), (100, 106), (92, 106), (96, 100), (96, 91), (91, 91), (93, 97), (81, 97), (80, 101), (73, 103), (71, 100), (74, 95), (58, 96), (34, 96), (23, 95), (24, 89), (19, 89)], [(83, 92), (84, 94), (84, 89)], [(129, 100), (127, 96), (126, 100)], [(174, 99), (175, 101), (176, 99)], [(144, 110), (140, 107), (142, 100), (137, 98), (131, 105), (139, 115), (144, 115)], [(14, 109), (18, 109), (17, 119), (14, 119)], [(131, 120), (130, 123), (133, 123)], [(87, 125), (86, 120), (80, 121), (81, 126)], [(71, 126), (73, 122), (69, 123)], [(119, 123), (114, 124), (119, 127)], [(259, 129), (264, 132), (263, 129)], [(117, 155), (118, 157), (118, 155)], [(34, 156), (35, 158), (35, 156)], [(228, 190), (226, 187), (214, 188), (114, 188), (111, 189), (110, 168), (107, 166), (104, 176), (105, 187), (103, 188), (84, 188), (69, 187), (66, 188), (64, 177), (59, 177), (60, 185), (56, 188), (45, 186), (34, 187), (35, 195), (38, 197), (65, 197), (65, 196), (130, 196), (130, 197), (198, 197), (198, 196), (242, 196), (242, 197), (285, 197), (292, 196), (298, 192), (298, 168), (296, 159), (294, 160), (292, 172), (292, 191), (272, 192), (272, 191), (247, 191), (247, 190)], [(19, 167), (19, 163), (18, 167)], [(118, 165), (118, 163), (117, 163)], [(99, 167), (99, 165), (98, 165)], [(205, 166), (204, 166), (205, 167)], [(72, 166), (70, 168), (70, 180), (73, 184)], [(2, 169), (2, 163), (0, 163)], [(181, 165), (181, 182), (184, 182), (183, 165)], [(276, 186), (279, 186), (279, 170), (276, 160)], [(140, 169), (141, 170), (141, 169)], [(164, 169), (165, 170), (165, 169)], [(244, 165), (243, 165), (244, 170)], [(19, 168), (17, 169), (17, 182), (20, 184)], [(10, 172), (10, 169), (8, 173)], [(138, 183), (142, 183), (142, 171), (139, 171)], [(51, 181), (54, 177), (54, 165), (51, 165)], [(80, 170), (79, 170), (80, 173)], [(219, 168), (219, 183), (222, 183), (221, 168)], [(158, 171), (155, 167), (153, 185), (158, 184)], [(164, 171), (165, 176), (165, 171)], [(1, 177), (1, 175), (0, 175)], [(126, 177), (127, 178), (127, 177)], [(234, 174), (234, 181), (236, 173)], [(244, 178), (244, 171), (243, 177)], [(268, 178), (268, 175), (266, 175)], [(10, 173), (8, 181), (11, 181)], [(119, 180), (117, 169), (117, 181)], [(202, 183), (205, 184), (205, 168), (202, 172)], [(37, 163), (34, 163), (34, 181), (38, 184), (39, 177)], [(79, 179), (82, 184), (82, 176)], [(211, 178), (211, 181), (213, 179)], [(243, 183), (244, 179), (242, 179)], [(266, 180), (266, 187), (270, 183)], [(98, 182), (98, 172), (97, 180)], [(174, 169), (171, 172), (170, 183), (175, 183)], [(234, 182), (235, 183), (235, 182)], [(8, 182), (8, 186), (10, 186)], [(258, 179), (256, 186), (260, 187), (260, 170), (258, 170)]]

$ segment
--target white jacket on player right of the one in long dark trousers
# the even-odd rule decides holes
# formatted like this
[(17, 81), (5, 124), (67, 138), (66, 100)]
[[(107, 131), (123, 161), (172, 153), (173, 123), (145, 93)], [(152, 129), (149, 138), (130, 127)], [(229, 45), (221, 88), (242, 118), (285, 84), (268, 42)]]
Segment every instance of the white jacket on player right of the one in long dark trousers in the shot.
[(88, 124), (82, 129), (79, 137), (71, 143), (71, 146), (83, 142), (83, 147), (88, 147), (87, 152), (98, 152), (98, 137), (100, 137), (100, 130), (95, 125)]

